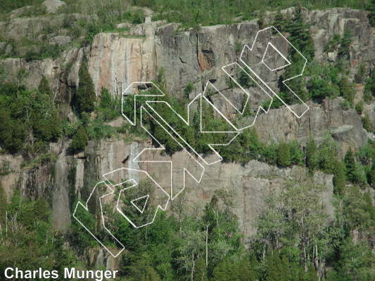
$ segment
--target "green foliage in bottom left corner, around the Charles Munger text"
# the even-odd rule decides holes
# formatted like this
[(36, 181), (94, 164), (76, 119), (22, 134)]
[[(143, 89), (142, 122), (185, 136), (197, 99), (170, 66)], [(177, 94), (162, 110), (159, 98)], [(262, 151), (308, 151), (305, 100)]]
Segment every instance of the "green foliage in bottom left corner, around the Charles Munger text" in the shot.
[[(48, 204), (42, 198), (30, 201), (15, 191), (1, 206), (7, 216), (0, 218), (0, 270), (11, 264), (20, 270), (49, 268), (60, 270), (77, 264), (72, 251), (63, 247), (63, 237), (53, 232)], [(6, 220), (6, 228), (3, 222)]]

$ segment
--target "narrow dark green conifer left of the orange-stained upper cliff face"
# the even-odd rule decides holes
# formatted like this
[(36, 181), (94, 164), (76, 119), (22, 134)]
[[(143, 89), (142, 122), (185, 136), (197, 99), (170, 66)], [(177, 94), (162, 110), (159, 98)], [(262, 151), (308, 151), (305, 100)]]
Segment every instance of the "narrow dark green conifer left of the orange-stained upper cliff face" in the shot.
[(94, 110), (96, 94), (86, 60), (82, 61), (78, 76), (80, 78), (80, 85), (76, 93), (77, 111), (79, 113), (92, 112)]

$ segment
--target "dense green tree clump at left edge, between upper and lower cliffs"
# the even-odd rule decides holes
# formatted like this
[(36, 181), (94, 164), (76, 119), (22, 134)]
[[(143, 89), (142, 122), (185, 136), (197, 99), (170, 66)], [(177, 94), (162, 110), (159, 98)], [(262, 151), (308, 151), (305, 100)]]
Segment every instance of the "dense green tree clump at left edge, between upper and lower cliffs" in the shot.
[(0, 142), (10, 152), (37, 152), (61, 136), (61, 119), (48, 92), (0, 84), (0, 113)]

